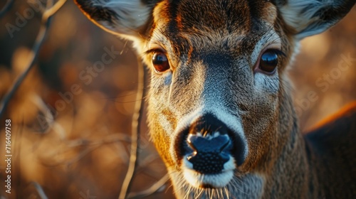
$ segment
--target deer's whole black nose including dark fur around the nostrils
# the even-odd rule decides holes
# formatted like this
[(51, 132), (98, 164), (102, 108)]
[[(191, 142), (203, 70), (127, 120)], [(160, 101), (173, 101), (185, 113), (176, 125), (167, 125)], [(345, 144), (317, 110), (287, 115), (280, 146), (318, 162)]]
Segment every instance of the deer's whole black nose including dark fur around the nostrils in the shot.
[(198, 173), (217, 174), (241, 163), (245, 145), (236, 131), (214, 114), (206, 113), (179, 133), (176, 146), (184, 166)]

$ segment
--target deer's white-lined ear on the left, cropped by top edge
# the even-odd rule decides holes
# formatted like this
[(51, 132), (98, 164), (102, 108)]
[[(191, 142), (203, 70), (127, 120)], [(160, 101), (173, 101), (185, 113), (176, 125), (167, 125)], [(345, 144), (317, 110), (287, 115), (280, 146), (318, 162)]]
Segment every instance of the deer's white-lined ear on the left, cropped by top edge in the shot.
[(155, 5), (143, 0), (74, 0), (93, 23), (124, 38), (145, 31)]

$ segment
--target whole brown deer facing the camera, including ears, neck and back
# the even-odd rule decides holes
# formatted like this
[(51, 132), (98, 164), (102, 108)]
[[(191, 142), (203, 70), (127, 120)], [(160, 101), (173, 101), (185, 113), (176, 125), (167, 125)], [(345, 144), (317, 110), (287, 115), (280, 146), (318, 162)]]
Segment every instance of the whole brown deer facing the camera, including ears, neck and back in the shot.
[(355, 0), (74, 0), (150, 68), (177, 198), (355, 198), (356, 103), (302, 134), (287, 70)]

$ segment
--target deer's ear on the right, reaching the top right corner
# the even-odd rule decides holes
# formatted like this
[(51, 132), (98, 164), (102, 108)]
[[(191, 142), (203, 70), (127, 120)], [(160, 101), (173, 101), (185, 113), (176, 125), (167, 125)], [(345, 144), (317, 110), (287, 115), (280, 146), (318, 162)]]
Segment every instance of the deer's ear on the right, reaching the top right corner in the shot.
[(298, 39), (326, 31), (340, 21), (355, 0), (275, 0), (283, 20)]

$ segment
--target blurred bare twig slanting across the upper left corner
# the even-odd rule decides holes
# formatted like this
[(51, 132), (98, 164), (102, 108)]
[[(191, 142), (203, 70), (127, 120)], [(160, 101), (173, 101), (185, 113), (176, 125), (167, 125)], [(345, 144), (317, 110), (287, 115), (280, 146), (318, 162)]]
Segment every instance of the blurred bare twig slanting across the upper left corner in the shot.
[(5, 95), (3, 102), (0, 104), (0, 118), (4, 117), (6, 107), (9, 105), (11, 98), (14, 96), (16, 90), (20, 87), (21, 83), (23, 80), (26, 78), (28, 75), (28, 72), (33, 68), (34, 63), (36, 58), (38, 57), (38, 51), (41, 48), (41, 45), (46, 37), (46, 33), (48, 31), (48, 27), (50, 24), (50, 18), (53, 16), (53, 14), (58, 11), (58, 9), (61, 9), (61, 6), (63, 6), (64, 3), (66, 3), (67, 0), (58, 0), (54, 6), (51, 8), (46, 9), (46, 11), (43, 13), (42, 16), (42, 25), (40, 30), (38, 31), (38, 35), (35, 41), (35, 44), (33, 45), (32, 48), (32, 53), (31, 53), (31, 61), (29, 62), (28, 66), (26, 67), (26, 70), (19, 75), (17, 80), (15, 81), (14, 85), (11, 87), (9, 92)]

